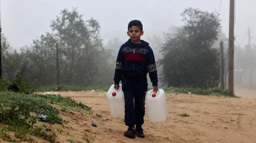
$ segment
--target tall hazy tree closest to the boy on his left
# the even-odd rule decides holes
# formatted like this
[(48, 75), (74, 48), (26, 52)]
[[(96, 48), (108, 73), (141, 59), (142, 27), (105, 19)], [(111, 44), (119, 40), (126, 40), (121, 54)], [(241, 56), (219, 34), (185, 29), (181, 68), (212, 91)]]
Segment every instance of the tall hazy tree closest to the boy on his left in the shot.
[[(100, 39), (100, 24), (93, 18), (84, 21), (73, 9), (62, 10), (61, 16), (51, 22), (59, 47), (62, 48), (66, 65), (62, 68), (62, 79), (66, 84), (89, 86), (99, 78), (99, 55), (104, 51)], [(108, 53), (104, 51), (103, 53)], [(106, 63), (106, 61), (101, 61)]]

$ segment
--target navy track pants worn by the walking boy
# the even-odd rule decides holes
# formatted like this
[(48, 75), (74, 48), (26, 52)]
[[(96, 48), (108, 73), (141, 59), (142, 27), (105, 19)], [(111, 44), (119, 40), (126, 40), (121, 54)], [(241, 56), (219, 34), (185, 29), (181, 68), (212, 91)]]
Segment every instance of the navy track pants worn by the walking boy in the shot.
[(136, 124), (136, 127), (141, 127), (145, 115), (147, 78), (130, 80), (122, 76), (122, 90), (124, 92), (125, 125), (134, 127)]

